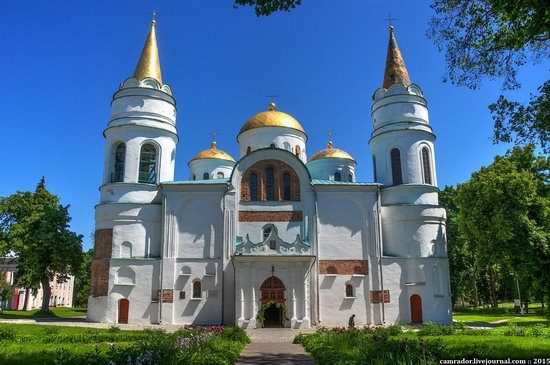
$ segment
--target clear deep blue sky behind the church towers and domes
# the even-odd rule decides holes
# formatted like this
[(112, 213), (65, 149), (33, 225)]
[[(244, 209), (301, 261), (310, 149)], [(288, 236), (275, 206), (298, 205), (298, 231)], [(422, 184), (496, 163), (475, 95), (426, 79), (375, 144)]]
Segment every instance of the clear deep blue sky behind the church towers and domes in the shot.
[[(471, 91), (442, 82), (443, 54), (425, 36), (430, 1), (304, 0), (258, 18), (231, 0), (9, 1), (0, 9), (0, 196), (33, 190), (41, 176), (71, 205), (72, 228), (91, 245), (103, 164), (102, 131), (118, 85), (131, 76), (156, 8), (163, 79), (178, 105), (176, 179), (207, 148), (210, 133), (238, 156), (236, 136), (266, 95), (296, 117), (312, 155), (333, 131), (336, 147), (372, 181), (371, 96), (382, 84), (388, 13), (413, 82), (424, 89), (437, 135), (440, 187), (463, 182), (509, 146), (492, 145), (487, 105), (500, 83)], [(547, 67), (525, 67), (523, 91)]]

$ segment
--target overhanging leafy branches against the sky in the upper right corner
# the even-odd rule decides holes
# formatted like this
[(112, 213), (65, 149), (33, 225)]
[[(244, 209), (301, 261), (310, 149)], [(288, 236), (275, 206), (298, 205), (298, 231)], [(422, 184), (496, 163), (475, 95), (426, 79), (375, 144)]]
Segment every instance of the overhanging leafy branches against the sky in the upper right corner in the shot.
[[(428, 37), (445, 52), (446, 78), (478, 88), (484, 79), (503, 80), (503, 89), (521, 87), (518, 69), (550, 56), (547, 0), (436, 0)], [(550, 81), (527, 105), (504, 95), (489, 106), (493, 142), (536, 143), (550, 151)]]

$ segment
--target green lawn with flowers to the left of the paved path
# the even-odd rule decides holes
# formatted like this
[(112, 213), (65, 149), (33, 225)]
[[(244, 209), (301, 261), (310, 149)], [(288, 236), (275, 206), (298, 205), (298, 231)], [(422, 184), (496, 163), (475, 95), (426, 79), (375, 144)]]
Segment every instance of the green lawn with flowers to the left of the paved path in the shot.
[(232, 364), (248, 342), (234, 327), (165, 333), (0, 323), (0, 364)]

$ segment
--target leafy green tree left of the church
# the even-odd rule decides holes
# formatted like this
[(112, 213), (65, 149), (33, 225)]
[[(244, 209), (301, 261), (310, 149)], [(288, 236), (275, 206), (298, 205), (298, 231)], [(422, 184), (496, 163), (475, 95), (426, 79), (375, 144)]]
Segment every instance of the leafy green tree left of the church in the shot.
[(34, 193), (0, 199), (0, 249), (17, 256), (18, 280), (43, 289), (41, 310), (49, 310), (50, 281), (63, 282), (78, 271), (82, 235), (69, 230), (69, 206), (50, 193), (42, 178)]

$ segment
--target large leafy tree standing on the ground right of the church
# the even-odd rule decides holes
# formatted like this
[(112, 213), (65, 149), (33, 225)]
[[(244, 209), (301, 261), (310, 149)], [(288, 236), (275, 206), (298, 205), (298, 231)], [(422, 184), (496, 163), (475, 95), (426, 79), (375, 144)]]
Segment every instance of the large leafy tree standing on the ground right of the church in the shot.
[(459, 227), (477, 244), (493, 305), (497, 284), (509, 271), (518, 275), (522, 290), (539, 284), (549, 294), (549, 166), (548, 158), (534, 154), (533, 145), (515, 147), (459, 185)]

